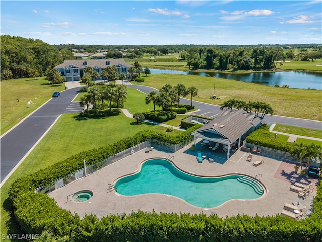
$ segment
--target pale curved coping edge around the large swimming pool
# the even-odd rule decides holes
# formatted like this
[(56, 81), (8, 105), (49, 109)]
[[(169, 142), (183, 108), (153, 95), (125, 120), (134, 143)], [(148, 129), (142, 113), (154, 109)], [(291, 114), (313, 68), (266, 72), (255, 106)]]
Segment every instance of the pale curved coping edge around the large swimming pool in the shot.
[(130, 195), (130, 196), (127, 196), (127, 195), (123, 195), (123, 194), (120, 194), (117, 192), (117, 188), (115, 190), (115, 194), (117, 196), (122, 196), (122, 197), (138, 197), (138, 196), (148, 196), (148, 195), (163, 195), (163, 196), (166, 196), (166, 197), (172, 197), (172, 198), (175, 198), (175, 199), (178, 199), (179, 201), (182, 201), (184, 202), (185, 204), (191, 206), (191, 207), (194, 207), (194, 208), (199, 208), (199, 209), (203, 209), (203, 210), (213, 210), (213, 209), (218, 209), (220, 207), (223, 207), (225, 205), (227, 205), (228, 203), (230, 202), (233, 202), (233, 201), (241, 201), (241, 202), (245, 202), (245, 201), (248, 201), (248, 202), (251, 202), (251, 201), (256, 201), (256, 200), (260, 200), (260, 199), (263, 199), (269, 192), (269, 190), (266, 188), (266, 186), (264, 185), (264, 183), (262, 183), (262, 181), (256, 179), (255, 177), (251, 176), (251, 175), (248, 175), (248, 174), (244, 174), (244, 173), (239, 173), (239, 172), (233, 172), (233, 173), (226, 173), (226, 174), (221, 174), (221, 175), (203, 175), (203, 174), (196, 174), (196, 173), (193, 173), (193, 172), (188, 172), (188, 171), (185, 171), (184, 169), (178, 167), (173, 161), (171, 160), (168, 160), (166, 157), (149, 157), (147, 159), (144, 159), (143, 161), (141, 161), (139, 164), (138, 164), (138, 169), (136, 169), (134, 172), (129, 172), (127, 174), (124, 174), (116, 179), (113, 180), (112, 184), (115, 185), (117, 183), (118, 180), (122, 179), (123, 177), (126, 177), (126, 176), (129, 176), (129, 175), (134, 175), (134, 174), (137, 174), (139, 173), (141, 170), (142, 170), (142, 165), (149, 161), (149, 160), (152, 160), (152, 159), (163, 159), (165, 161), (168, 161), (170, 162), (176, 169), (178, 169), (179, 171), (181, 172), (184, 172), (186, 174), (189, 174), (189, 175), (192, 175), (192, 176), (197, 176), (197, 177), (204, 177), (204, 178), (219, 178), (219, 177), (225, 177), (225, 176), (229, 176), (229, 175), (243, 175), (243, 176), (247, 176), (249, 178), (252, 178), (252, 179), (255, 179), (258, 183), (261, 184), (261, 186), (263, 187), (264, 189), (264, 193), (261, 197), (259, 198), (255, 198), (255, 199), (230, 199), (230, 200), (227, 200), (226, 202), (220, 204), (219, 206), (217, 207), (211, 207), (211, 208), (204, 208), (204, 207), (198, 207), (198, 206), (195, 206), (195, 205), (192, 205), (191, 203), (188, 203), (186, 202), (184, 199), (182, 198), (179, 198), (179, 197), (176, 197), (176, 196), (173, 196), (173, 195), (169, 195), (169, 194), (164, 194), (164, 193), (147, 193), (147, 194), (138, 194), (138, 195)]

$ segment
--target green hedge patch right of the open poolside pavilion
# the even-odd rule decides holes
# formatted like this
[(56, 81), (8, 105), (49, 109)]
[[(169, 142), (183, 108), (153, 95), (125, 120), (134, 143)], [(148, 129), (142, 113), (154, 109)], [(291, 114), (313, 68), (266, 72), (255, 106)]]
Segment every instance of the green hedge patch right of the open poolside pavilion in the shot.
[(276, 140), (275, 134), (270, 132), (270, 128), (267, 125), (262, 125), (259, 129), (247, 136), (246, 142), (286, 152), (290, 152), (294, 147), (294, 144), (291, 142)]

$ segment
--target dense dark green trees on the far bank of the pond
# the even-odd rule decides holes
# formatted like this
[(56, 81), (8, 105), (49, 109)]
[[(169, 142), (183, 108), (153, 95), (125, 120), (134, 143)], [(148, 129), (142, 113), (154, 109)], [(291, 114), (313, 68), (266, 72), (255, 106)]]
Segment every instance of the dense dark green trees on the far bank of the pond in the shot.
[[(240, 47), (223, 50), (219, 47), (192, 47), (182, 53), (180, 57), (187, 60), (189, 69), (214, 69), (214, 70), (266, 70), (276, 68), (277, 61), (287, 58), (316, 59), (322, 57), (322, 49), (315, 51), (301, 51), (295, 55), (294, 51), (284, 50), (281, 47)], [(282, 65), (282, 64), (281, 64)]]

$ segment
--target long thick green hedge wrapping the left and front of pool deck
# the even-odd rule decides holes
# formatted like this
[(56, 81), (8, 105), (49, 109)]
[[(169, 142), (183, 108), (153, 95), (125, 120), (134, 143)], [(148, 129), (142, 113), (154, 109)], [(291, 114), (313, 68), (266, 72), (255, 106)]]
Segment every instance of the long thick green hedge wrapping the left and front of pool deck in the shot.
[(34, 174), (16, 180), (10, 187), (9, 198), (19, 225), (26, 233), (40, 234), (47, 230), (58, 236), (67, 235), (73, 241), (320, 241), (322, 237), (322, 187), (317, 187), (314, 212), (300, 221), (288, 217), (226, 217), (205, 214), (166, 214), (133, 212), (129, 215), (78, 215), (60, 208), (47, 194), (34, 189), (49, 184), (83, 167), (98, 163), (124, 149), (149, 139), (172, 144), (180, 143), (200, 128), (195, 125), (179, 135), (144, 130), (108, 147), (100, 147), (74, 155)]

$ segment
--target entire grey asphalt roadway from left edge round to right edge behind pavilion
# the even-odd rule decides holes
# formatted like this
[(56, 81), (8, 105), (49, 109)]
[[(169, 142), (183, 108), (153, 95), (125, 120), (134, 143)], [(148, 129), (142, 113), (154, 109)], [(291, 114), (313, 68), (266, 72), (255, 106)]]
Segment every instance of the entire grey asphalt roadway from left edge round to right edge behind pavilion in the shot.
[[(131, 85), (128, 87), (136, 88), (144, 93), (155, 90), (151, 87)], [(5, 181), (14, 167), (23, 161), (32, 147), (46, 133), (50, 126), (55, 122), (59, 115), (70, 112), (81, 112), (82, 108), (78, 103), (71, 101), (77, 95), (80, 87), (65, 90), (58, 98), (52, 98), (34, 113), (29, 115), (23, 122), (19, 123), (14, 129), (1, 137), (1, 185)], [(180, 103), (190, 104), (189, 99), (181, 98)], [(193, 105), (199, 109), (195, 112), (198, 115), (215, 117), (220, 114), (219, 106), (213, 104), (193, 101)], [(322, 129), (322, 122), (306, 119), (289, 118), (282, 116), (268, 116), (264, 118), (264, 123), (285, 124), (311, 129)]]

